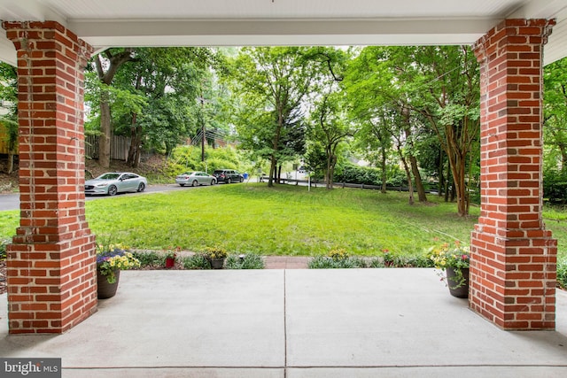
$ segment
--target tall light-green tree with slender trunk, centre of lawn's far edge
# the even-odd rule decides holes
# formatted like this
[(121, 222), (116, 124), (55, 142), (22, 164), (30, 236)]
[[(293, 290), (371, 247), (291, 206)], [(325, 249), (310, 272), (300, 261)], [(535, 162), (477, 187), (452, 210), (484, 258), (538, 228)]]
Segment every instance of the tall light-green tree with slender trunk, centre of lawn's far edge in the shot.
[(304, 47), (245, 48), (232, 67), (232, 86), (241, 97), (238, 130), (257, 130), (241, 136), (248, 137), (246, 144), (260, 156), (269, 158), (268, 186), (274, 184), (276, 166), (283, 158), (282, 143), (289, 127), (297, 124), (294, 120), (318, 73), (307, 58), (309, 51)]

